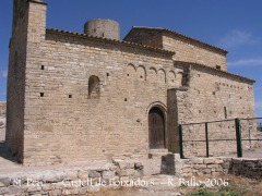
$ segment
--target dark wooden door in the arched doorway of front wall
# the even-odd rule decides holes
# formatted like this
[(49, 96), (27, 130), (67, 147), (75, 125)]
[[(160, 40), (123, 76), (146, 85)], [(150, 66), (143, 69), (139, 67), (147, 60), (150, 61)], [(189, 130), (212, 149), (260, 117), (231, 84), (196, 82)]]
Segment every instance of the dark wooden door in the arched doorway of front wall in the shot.
[(148, 113), (150, 149), (164, 149), (165, 144), (165, 118), (159, 108), (152, 108)]

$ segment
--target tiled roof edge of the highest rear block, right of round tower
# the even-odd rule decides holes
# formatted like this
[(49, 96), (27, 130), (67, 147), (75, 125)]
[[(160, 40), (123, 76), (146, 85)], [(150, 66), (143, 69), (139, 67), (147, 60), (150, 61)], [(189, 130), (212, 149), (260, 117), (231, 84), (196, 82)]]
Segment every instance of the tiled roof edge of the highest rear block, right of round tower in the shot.
[(209, 45), (209, 44), (203, 42), (203, 41), (201, 41), (201, 40), (198, 40), (198, 39), (188, 37), (188, 36), (186, 36), (186, 35), (179, 34), (179, 33), (177, 33), (177, 32), (169, 30), (169, 29), (167, 29), (167, 28), (146, 27), (146, 26), (133, 26), (132, 29), (151, 29), (151, 30), (166, 32), (166, 33), (172, 34), (172, 35), (175, 35), (175, 36), (181, 37), (181, 38), (183, 38), (183, 39), (186, 39), (186, 40), (189, 40), (189, 41), (191, 41), (191, 42), (194, 42), (194, 44), (196, 44), (196, 45), (200, 45), (200, 46), (202, 46), (202, 47), (207, 47), (207, 48), (210, 48), (210, 49), (219, 51), (219, 52), (222, 52), (222, 53), (224, 53), (224, 54), (227, 54), (227, 53), (228, 53), (228, 51), (226, 51), (226, 50), (224, 50), (224, 49), (222, 49), (222, 48), (218, 48), (218, 47)]

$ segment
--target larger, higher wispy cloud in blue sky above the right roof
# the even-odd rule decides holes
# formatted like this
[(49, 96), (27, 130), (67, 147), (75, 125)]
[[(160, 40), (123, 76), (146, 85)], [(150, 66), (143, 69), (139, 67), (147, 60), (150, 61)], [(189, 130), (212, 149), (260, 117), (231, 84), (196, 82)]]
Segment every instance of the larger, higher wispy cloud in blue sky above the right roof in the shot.
[(234, 48), (241, 45), (257, 45), (260, 40), (251, 33), (242, 30), (231, 30), (225, 37), (218, 40), (218, 45), (223, 48)]

